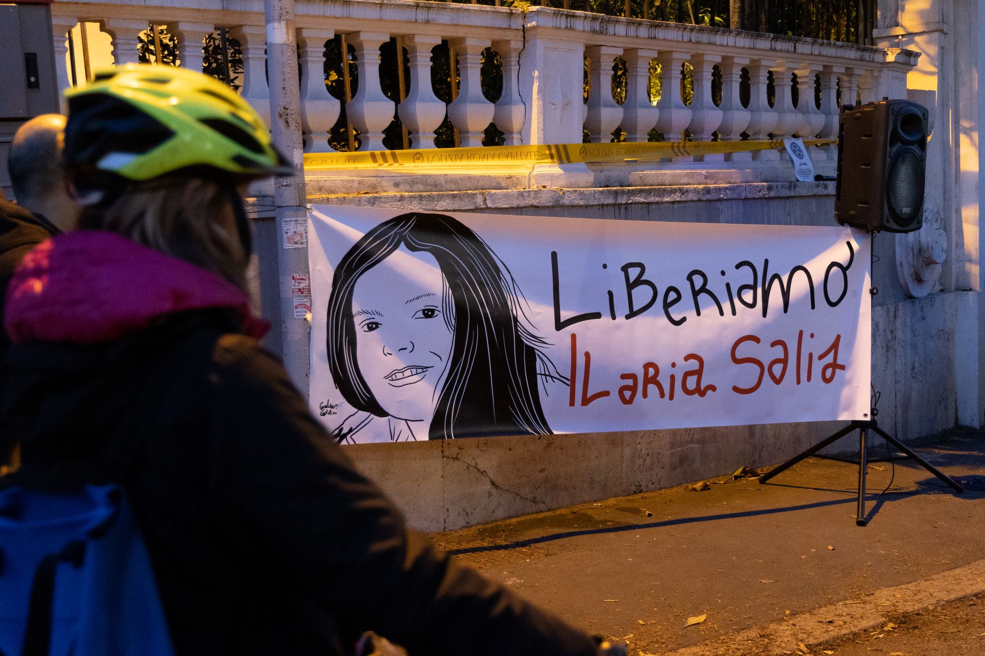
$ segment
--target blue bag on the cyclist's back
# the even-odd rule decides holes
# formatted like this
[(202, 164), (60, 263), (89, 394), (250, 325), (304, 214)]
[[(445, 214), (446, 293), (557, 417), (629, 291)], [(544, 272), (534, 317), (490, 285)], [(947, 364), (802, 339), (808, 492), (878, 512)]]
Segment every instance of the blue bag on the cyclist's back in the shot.
[(0, 655), (173, 656), (140, 530), (118, 486), (0, 492)]

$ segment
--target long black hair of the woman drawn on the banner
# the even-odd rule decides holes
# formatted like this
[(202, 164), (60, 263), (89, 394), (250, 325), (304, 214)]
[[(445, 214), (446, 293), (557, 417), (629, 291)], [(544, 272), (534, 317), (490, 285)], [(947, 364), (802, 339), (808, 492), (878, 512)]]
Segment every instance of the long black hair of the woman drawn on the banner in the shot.
[[(446, 285), (443, 315), (454, 335), (429, 437), (551, 433), (539, 379), (566, 378), (542, 352), (546, 343), (520, 320), (523, 296), (506, 266), (478, 234), (441, 214), (414, 212), (380, 224), (336, 267), (328, 300), (328, 364), (346, 401), (388, 416), (357, 361), (353, 292), (362, 274), (402, 245), (437, 260)], [(337, 432), (340, 441), (348, 436)]]

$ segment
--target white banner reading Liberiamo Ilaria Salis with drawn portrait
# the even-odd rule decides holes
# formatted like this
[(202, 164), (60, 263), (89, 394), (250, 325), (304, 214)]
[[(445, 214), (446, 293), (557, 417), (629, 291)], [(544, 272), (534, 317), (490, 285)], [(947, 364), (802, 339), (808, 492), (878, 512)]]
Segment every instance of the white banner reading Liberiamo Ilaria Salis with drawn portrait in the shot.
[(345, 443), (868, 418), (865, 232), (322, 205), (308, 236)]

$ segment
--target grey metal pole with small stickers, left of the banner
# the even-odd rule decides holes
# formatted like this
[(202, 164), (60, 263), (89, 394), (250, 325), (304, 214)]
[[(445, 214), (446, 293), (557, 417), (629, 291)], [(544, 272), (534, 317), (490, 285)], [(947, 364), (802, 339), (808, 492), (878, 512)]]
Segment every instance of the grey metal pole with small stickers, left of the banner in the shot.
[(274, 144), (296, 167), (296, 175), (274, 180), (278, 272), (284, 365), (296, 387), (308, 392), (311, 283), (307, 263), (307, 196), (304, 190), (297, 75), (295, 0), (264, 0), (267, 19), (267, 78)]

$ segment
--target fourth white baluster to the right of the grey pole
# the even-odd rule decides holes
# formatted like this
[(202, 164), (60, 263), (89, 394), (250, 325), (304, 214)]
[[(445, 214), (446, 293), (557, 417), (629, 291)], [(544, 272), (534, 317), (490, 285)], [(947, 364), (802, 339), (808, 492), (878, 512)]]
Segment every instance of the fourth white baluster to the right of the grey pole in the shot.
[(458, 57), (458, 74), (461, 84), (458, 96), (448, 105), (448, 119), (458, 128), (463, 148), (483, 145), (483, 131), (493, 122), (495, 107), (483, 96), (480, 79), (483, 50), (493, 42), (487, 38), (471, 36), (449, 39), (448, 44)]

